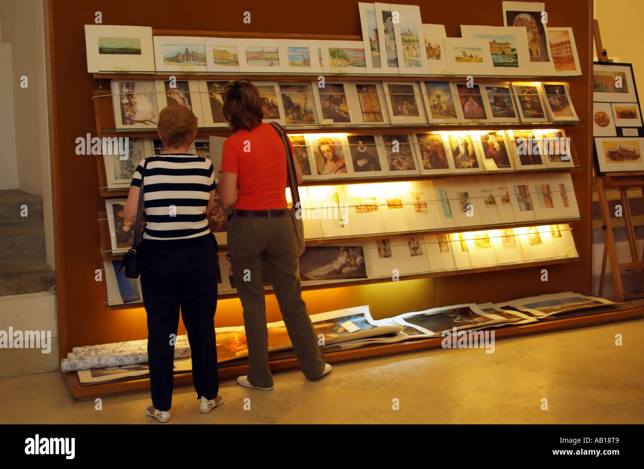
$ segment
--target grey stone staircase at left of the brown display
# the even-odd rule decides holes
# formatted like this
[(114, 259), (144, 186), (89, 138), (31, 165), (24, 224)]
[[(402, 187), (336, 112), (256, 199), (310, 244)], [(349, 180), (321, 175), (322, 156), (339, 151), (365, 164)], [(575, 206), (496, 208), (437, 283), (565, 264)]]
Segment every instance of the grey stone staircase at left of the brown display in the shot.
[[(21, 216), (22, 206), (27, 215)], [(0, 296), (48, 291), (55, 285), (44, 244), (43, 198), (0, 191)]]

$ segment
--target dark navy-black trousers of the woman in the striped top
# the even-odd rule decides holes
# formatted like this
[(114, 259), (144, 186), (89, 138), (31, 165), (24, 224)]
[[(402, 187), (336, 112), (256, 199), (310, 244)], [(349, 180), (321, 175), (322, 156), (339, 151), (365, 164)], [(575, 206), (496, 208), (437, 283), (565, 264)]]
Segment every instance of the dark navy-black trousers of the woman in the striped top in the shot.
[[(202, 239), (203, 238), (203, 239)], [(217, 307), (217, 244), (205, 235), (190, 244), (143, 242), (141, 289), (147, 313), (147, 356), (152, 403), (170, 410), (175, 334), (181, 308), (193, 361), (197, 399), (219, 390), (214, 312)], [(162, 242), (165, 243), (165, 242)]]

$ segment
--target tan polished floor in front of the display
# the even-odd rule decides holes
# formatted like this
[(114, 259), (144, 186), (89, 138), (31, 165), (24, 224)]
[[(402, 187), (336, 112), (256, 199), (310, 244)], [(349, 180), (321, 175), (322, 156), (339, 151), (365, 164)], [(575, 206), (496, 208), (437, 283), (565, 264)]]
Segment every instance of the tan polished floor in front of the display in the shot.
[[(339, 363), (316, 382), (281, 372), (269, 392), (225, 381), (225, 403), (205, 415), (194, 390), (180, 387), (170, 423), (641, 424), (643, 336), (644, 320), (632, 320), (498, 340), (493, 354), (440, 349)], [(71, 397), (59, 371), (0, 379), (0, 396), (0, 423), (161, 425), (144, 416), (149, 392), (105, 397), (95, 410)]]

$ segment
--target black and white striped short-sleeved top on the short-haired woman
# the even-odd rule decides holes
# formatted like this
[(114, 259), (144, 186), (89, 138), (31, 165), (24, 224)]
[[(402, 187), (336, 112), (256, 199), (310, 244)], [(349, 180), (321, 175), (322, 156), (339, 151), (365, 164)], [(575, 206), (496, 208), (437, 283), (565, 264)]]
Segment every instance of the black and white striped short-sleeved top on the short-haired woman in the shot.
[[(143, 160), (132, 177), (141, 186)], [(211, 160), (189, 153), (166, 153), (147, 158), (143, 179), (146, 209), (145, 240), (189, 240), (208, 235), (205, 213), (215, 189)]]

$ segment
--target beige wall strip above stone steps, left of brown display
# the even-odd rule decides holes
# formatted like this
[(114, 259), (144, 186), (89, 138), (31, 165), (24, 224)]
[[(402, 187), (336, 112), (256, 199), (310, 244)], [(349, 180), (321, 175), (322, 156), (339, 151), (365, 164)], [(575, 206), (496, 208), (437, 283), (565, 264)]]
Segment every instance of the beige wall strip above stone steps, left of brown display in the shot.
[[(0, 32), (1, 42), (11, 46), (14, 158), (17, 165), (15, 187), (43, 196), (47, 262), (53, 267), (43, 1), (0, 0)], [(27, 88), (21, 88), (23, 76), (28, 79)], [(0, 102), (6, 106), (6, 101)]]

